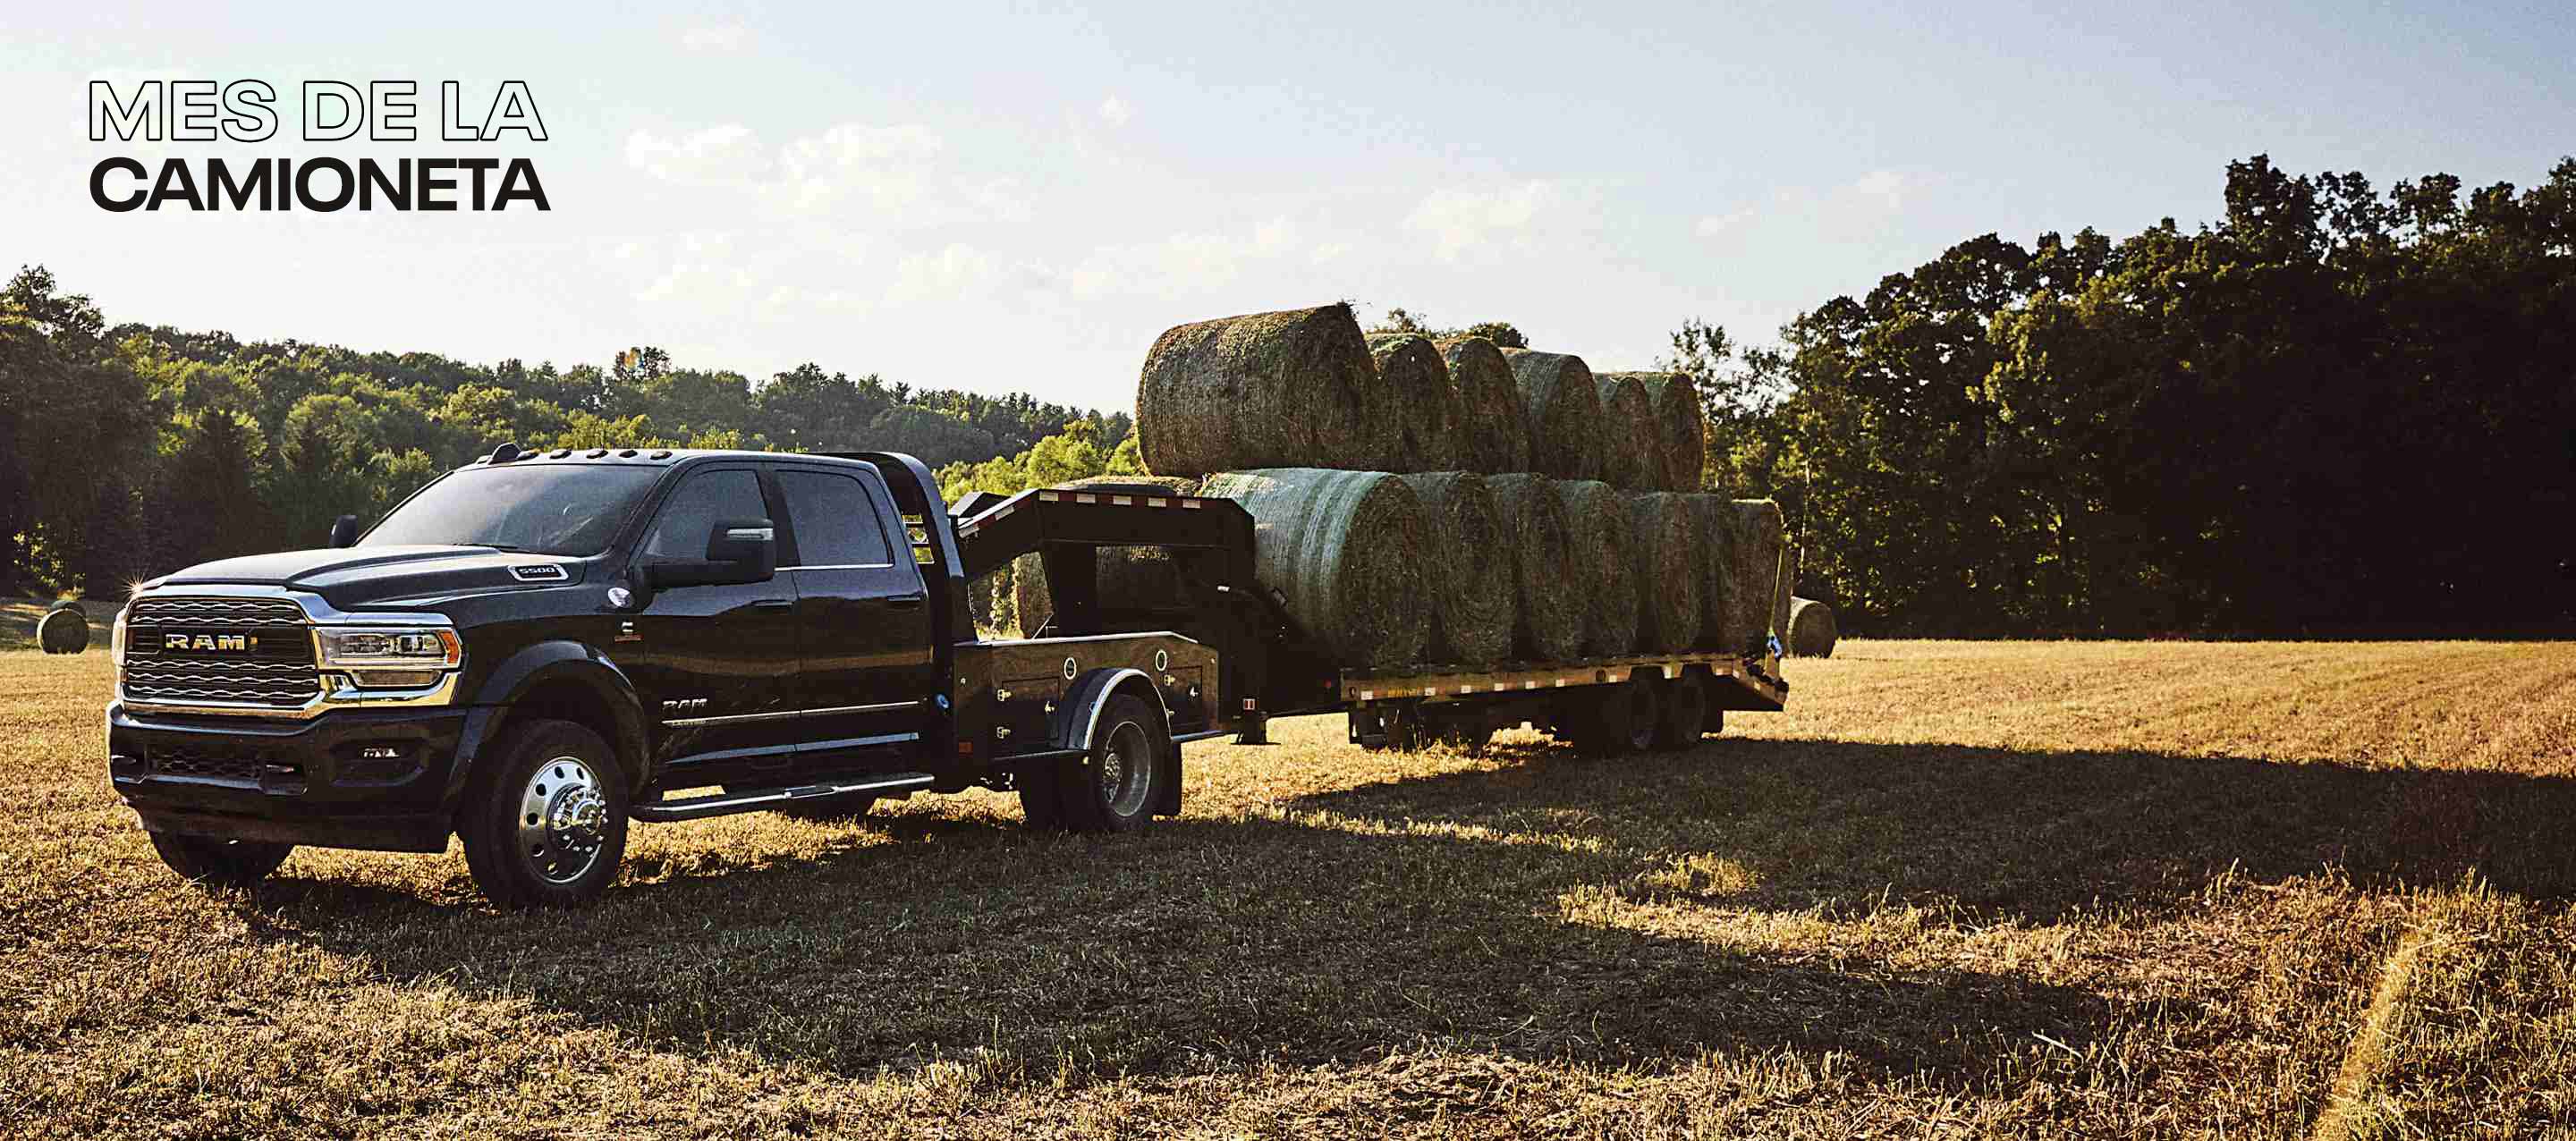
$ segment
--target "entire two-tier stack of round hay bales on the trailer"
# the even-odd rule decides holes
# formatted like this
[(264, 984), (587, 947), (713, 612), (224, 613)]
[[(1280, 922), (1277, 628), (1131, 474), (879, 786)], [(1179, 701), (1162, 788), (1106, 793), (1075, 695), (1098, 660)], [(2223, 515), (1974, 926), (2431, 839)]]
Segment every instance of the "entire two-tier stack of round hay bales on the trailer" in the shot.
[[(1154, 343), (1136, 446), (1164, 487), (1244, 505), (1257, 580), (1347, 667), (1754, 652), (1788, 631), (1780, 507), (1700, 492), (1682, 373), (1363, 335), (1347, 304), (1221, 317)], [(1103, 600), (1170, 590), (1146, 554), (1100, 559)], [(1028, 564), (1023, 634), (1048, 613)]]

